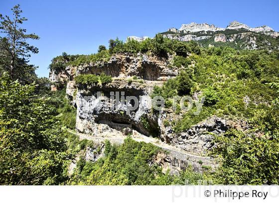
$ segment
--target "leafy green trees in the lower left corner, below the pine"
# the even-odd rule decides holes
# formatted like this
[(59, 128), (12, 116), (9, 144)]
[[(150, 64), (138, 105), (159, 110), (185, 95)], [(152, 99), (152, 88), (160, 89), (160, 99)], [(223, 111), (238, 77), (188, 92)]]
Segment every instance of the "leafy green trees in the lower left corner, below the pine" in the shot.
[(0, 77), (0, 184), (59, 184), (71, 158), (65, 132), (49, 99), (35, 85)]

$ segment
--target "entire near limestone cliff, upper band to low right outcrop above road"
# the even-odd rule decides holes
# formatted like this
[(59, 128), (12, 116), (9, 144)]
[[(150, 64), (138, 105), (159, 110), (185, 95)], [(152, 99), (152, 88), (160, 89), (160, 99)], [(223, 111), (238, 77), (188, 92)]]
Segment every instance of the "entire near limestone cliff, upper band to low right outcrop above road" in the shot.
[[(205, 132), (216, 130), (218, 134), (223, 133), (226, 130), (223, 122), (209, 120), (193, 127), (195, 131), (174, 133), (171, 126), (164, 125), (165, 120), (171, 122), (176, 117), (173, 111), (164, 108), (154, 111), (151, 108), (149, 100), (153, 87), (162, 86), (163, 81), (178, 74), (177, 69), (169, 68), (171, 59), (171, 56), (166, 60), (143, 54), (118, 54), (108, 62), (66, 66), (65, 70), (51, 71), (50, 79), (66, 84), (67, 97), (77, 108), (76, 130), (81, 133), (101, 137), (155, 136), (181, 150), (204, 154), (212, 147), (212, 136)], [(79, 74), (101, 73), (112, 76), (113, 81), (102, 85), (75, 84), (74, 78)], [(138, 79), (132, 80), (131, 76)], [(110, 100), (111, 92), (124, 93), (125, 103), (117, 102), (115, 96)], [(101, 93), (99, 98), (98, 93)], [(139, 101), (139, 107), (131, 110), (130, 114), (127, 114), (128, 108), (134, 106), (134, 101), (128, 101), (127, 97), (136, 97)]]

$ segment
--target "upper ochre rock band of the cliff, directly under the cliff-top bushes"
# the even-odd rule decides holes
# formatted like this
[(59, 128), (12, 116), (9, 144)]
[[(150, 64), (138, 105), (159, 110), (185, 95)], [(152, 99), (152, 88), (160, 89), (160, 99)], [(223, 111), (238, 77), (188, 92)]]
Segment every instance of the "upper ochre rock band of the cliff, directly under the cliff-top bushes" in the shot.
[(80, 66), (68, 65), (63, 70), (51, 70), (49, 79), (53, 83), (66, 83), (72, 81), (79, 74), (105, 73), (112, 77), (132, 77), (137, 76), (139, 79), (149, 81), (166, 81), (178, 74), (178, 70), (170, 67), (170, 61), (164, 58), (146, 54), (116, 54), (108, 62), (96, 62)]

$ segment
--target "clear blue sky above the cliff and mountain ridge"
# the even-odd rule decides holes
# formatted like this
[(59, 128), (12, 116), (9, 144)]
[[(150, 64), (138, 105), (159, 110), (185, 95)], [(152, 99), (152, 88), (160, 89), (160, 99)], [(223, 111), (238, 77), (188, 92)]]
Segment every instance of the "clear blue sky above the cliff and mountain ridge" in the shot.
[(19, 3), (29, 32), (40, 36), (30, 63), (48, 77), (51, 59), (62, 52), (91, 54), (108, 40), (154, 36), (182, 23), (207, 22), (226, 27), (237, 20), (279, 31), (279, 0), (0, 0), (0, 13)]

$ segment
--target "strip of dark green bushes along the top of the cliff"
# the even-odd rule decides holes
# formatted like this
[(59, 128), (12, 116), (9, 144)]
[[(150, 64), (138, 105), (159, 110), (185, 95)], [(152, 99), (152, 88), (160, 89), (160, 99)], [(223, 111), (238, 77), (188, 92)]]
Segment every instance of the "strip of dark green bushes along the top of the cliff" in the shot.
[[(100, 46), (99, 52), (91, 55), (63, 55), (53, 58), (49, 65), (51, 70), (65, 69), (67, 65), (80, 66), (96, 62), (108, 62), (113, 54), (116, 53), (152, 53), (158, 57), (167, 58), (168, 53), (176, 54), (177, 56), (188, 56), (189, 53), (200, 54), (200, 47), (196, 42), (181, 42), (164, 38), (157, 34), (154, 38), (147, 38), (141, 42), (134, 39), (128, 39), (126, 42), (116, 38), (109, 40), (109, 49)], [(181, 61), (181, 59), (180, 59)], [(178, 62), (181, 66), (187, 64), (182, 59)]]

